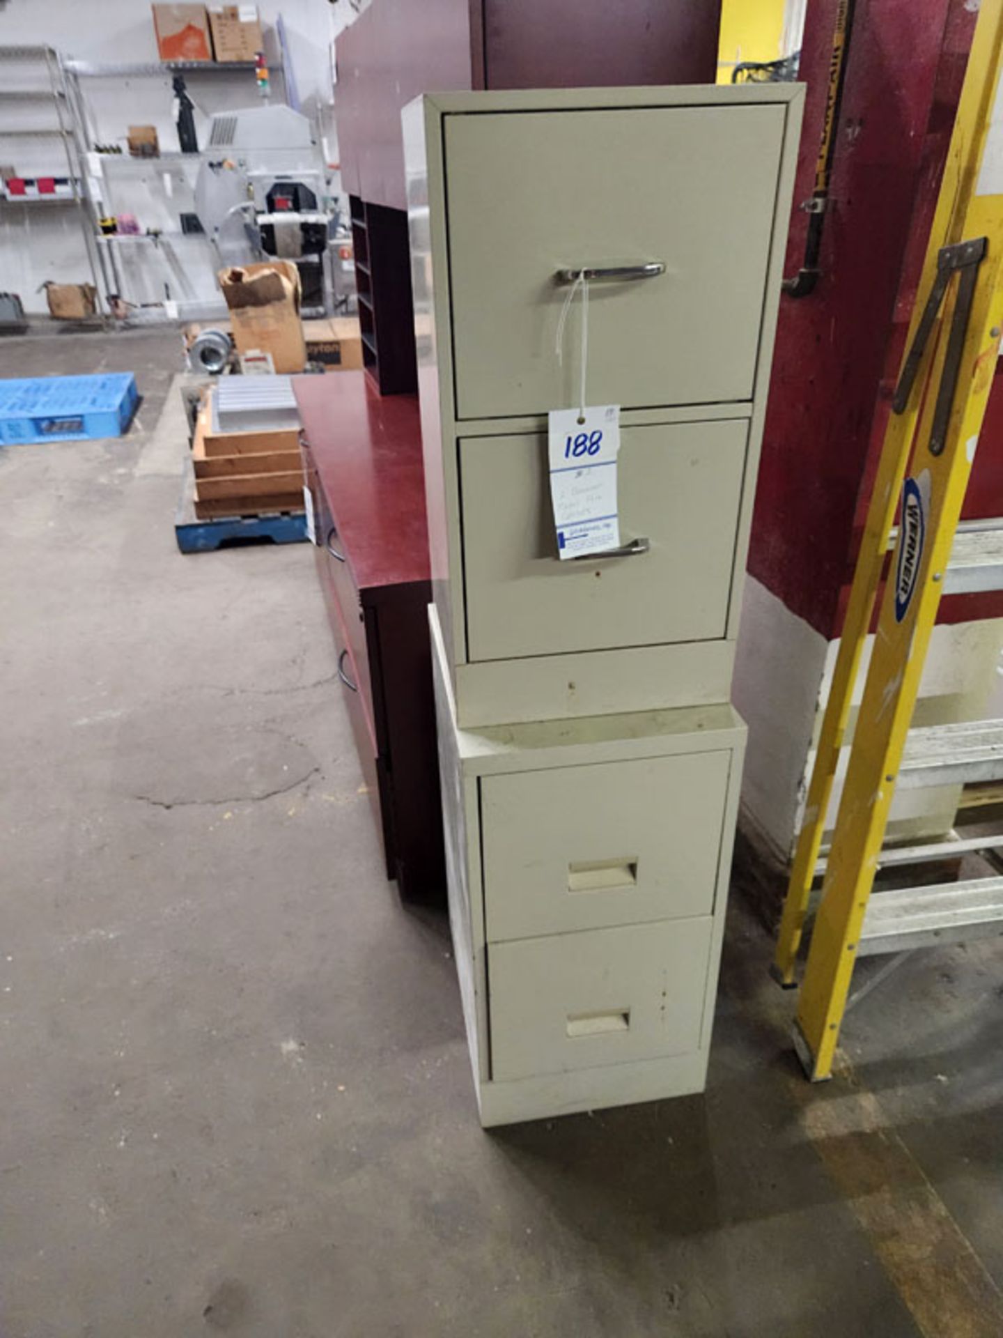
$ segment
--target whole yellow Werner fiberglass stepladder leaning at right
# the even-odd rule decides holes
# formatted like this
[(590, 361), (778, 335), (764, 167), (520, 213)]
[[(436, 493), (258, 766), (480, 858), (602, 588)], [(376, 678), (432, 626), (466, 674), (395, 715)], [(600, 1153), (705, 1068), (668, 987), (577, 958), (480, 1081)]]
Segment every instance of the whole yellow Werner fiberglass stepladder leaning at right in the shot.
[[(1003, 321), (1002, 60), (1003, 0), (983, 0), (919, 285), (928, 297), (916, 302), (909, 322), (773, 965), (781, 983), (794, 983), (812, 883), (824, 863), (794, 1024), (798, 1056), (814, 1081), (832, 1073), (857, 957), (1003, 933), (1003, 878), (871, 899), (879, 864), (896, 862), (893, 850), (883, 851), (896, 785), (1003, 779), (1003, 721), (909, 732), (941, 594), (1003, 589), (999, 522), (959, 531)], [(828, 860), (820, 862), (853, 684), (892, 541), (836, 828)], [(915, 847), (901, 863), (987, 844), (999, 847), (1003, 839)]]

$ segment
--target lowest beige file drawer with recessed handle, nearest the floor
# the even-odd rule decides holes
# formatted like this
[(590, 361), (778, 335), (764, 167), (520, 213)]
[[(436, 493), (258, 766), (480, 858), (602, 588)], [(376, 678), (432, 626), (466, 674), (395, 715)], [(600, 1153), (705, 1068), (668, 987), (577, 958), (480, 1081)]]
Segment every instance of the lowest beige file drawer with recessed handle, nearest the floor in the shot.
[(496, 1081), (697, 1050), (710, 917), (492, 943)]

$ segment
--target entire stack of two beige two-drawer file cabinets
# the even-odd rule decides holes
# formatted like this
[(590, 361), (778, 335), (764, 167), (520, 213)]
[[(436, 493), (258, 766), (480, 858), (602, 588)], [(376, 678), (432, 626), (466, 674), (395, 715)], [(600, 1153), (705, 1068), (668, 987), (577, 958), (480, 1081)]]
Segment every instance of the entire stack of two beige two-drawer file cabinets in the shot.
[[(802, 90), (404, 112), (449, 910), (481, 1121), (703, 1086), (730, 696)], [(588, 297), (622, 545), (560, 561), (547, 412)], [(606, 272), (606, 274), (603, 274)], [(566, 347), (578, 347), (571, 302)]]

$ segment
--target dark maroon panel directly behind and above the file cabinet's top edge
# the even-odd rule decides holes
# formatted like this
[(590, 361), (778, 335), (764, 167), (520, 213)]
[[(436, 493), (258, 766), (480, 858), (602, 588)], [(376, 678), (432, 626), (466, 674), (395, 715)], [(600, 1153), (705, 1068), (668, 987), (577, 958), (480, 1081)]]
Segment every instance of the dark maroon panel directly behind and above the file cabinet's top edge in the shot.
[(714, 83), (719, 0), (483, 0), (488, 88)]

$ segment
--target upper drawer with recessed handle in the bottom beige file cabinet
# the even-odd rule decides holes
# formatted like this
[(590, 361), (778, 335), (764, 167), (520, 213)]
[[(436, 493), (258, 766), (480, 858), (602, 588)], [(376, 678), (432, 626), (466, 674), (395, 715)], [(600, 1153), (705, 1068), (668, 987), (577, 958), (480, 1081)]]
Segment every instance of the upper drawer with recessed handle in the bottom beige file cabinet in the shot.
[(730, 751), (485, 776), (488, 942), (710, 915)]

